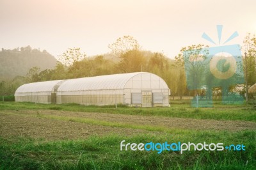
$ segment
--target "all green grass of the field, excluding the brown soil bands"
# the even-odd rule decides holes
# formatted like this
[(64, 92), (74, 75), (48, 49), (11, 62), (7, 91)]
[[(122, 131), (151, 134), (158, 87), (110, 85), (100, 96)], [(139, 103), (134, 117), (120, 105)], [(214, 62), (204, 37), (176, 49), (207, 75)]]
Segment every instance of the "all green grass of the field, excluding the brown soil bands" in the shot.
[[(121, 105), (120, 105), (121, 106)], [(256, 111), (247, 105), (214, 105), (212, 108), (195, 109), (189, 104), (173, 104), (165, 108), (131, 108), (83, 106), (77, 104), (45, 105), (4, 102), (0, 110), (49, 109), (75, 112), (109, 112), (114, 114), (153, 115), (207, 120), (256, 121)], [(17, 112), (18, 114), (18, 112)], [(21, 116), (22, 114), (19, 114)], [(23, 114), (22, 116), (31, 116)], [(255, 169), (256, 129), (228, 132), (227, 130), (191, 130), (153, 125), (109, 122), (38, 114), (46, 119), (75, 121), (118, 128), (148, 130), (147, 134), (108, 136), (92, 135), (86, 139), (47, 141), (29, 137), (0, 136), (0, 169)], [(1, 130), (1, 125), (0, 125)], [(156, 133), (161, 132), (161, 133)], [(244, 144), (246, 151), (120, 151), (125, 143), (224, 143)]]

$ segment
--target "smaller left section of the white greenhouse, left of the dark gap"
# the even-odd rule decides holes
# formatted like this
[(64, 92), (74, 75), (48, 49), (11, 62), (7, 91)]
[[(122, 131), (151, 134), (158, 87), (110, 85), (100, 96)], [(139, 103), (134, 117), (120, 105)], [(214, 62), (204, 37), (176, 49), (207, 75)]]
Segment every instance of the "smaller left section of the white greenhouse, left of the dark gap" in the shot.
[(15, 102), (56, 103), (56, 91), (63, 81), (33, 82), (15, 91)]

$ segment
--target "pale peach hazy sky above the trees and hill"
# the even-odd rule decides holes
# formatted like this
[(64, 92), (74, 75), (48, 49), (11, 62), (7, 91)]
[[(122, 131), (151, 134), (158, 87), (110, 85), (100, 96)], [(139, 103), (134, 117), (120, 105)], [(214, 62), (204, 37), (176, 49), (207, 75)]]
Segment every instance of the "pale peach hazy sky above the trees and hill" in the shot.
[[(54, 57), (69, 47), (87, 56), (111, 52), (108, 45), (133, 36), (142, 50), (174, 58), (182, 47), (202, 43), (243, 45), (246, 33), (256, 34), (253, 0), (0, 0), (0, 48), (30, 45)], [(220, 44), (216, 25), (223, 25)]]

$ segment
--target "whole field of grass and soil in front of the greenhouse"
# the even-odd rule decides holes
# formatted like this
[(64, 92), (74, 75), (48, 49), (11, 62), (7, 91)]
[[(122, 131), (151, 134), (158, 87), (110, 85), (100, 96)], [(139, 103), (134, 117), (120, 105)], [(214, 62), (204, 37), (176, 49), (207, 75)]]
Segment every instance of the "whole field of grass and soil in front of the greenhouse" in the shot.
[[(120, 151), (125, 143), (243, 144), (245, 151)], [(0, 104), (0, 169), (255, 169), (256, 109)]]

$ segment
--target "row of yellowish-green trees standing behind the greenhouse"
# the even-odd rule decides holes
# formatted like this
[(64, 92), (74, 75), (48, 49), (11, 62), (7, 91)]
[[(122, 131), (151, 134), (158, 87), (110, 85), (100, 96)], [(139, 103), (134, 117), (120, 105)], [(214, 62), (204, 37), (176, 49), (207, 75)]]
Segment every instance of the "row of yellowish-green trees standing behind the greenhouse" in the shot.
[[(21, 84), (38, 81), (51, 81), (61, 79), (75, 79), (80, 77), (92, 77), (97, 75), (109, 75), (114, 73), (150, 72), (159, 75), (168, 84), (173, 97), (193, 96), (195, 90), (187, 88), (184, 63), (184, 51), (207, 49), (204, 45), (191, 45), (184, 47), (175, 59), (164, 56), (162, 52), (141, 50), (140, 44), (132, 36), (122, 36), (109, 44), (111, 53), (88, 58), (80, 48), (69, 48), (58, 56), (58, 62), (52, 69), (41, 70), (34, 66), (28, 70), (26, 76), (17, 76), (11, 81), (1, 81), (1, 93), (13, 95), (15, 89)], [(252, 86), (256, 82), (256, 38), (247, 35), (244, 45), (247, 52), (248, 84)], [(195, 59), (199, 54), (193, 54)], [(201, 55), (201, 54), (200, 54)], [(244, 59), (244, 57), (243, 57)], [(198, 69), (205, 69), (202, 63)], [(244, 69), (244, 68), (243, 68)], [(200, 71), (198, 72), (200, 73)], [(196, 77), (194, 77), (196, 79)], [(193, 80), (191, 80), (193, 81)], [(199, 81), (199, 80), (198, 80)], [(200, 88), (200, 87), (196, 87)], [(218, 91), (218, 87), (216, 88)], [(200, 91), (203, 93), (204, 91)]]

